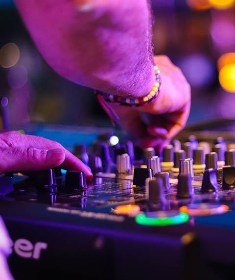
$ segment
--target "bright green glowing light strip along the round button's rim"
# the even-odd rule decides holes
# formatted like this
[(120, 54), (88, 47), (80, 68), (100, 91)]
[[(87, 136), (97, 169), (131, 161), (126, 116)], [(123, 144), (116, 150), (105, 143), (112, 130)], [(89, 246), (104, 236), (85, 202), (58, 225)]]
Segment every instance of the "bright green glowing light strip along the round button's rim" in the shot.
[(188, 222), (189, 216), (186, 213), (179, 213), (178, 216), (165, 217), (165, 218), (150, 218), (145, 214), (136, 216), (136, 223), (142, 225), (172, 225), (183, 224)]

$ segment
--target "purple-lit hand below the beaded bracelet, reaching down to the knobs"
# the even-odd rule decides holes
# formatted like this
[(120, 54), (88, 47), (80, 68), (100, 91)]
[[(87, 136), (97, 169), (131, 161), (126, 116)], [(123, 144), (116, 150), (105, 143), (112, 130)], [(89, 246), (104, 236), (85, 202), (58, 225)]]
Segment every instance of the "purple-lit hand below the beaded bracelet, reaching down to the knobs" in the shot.
[(161, 150), (185, 126), (190, 110), (190, 85), (181, 70), (167, 56), (154, 56), (162, 77), (159, 96), (149, 104), (130, 108), (108, 103), (119, 124), (142, 147)]

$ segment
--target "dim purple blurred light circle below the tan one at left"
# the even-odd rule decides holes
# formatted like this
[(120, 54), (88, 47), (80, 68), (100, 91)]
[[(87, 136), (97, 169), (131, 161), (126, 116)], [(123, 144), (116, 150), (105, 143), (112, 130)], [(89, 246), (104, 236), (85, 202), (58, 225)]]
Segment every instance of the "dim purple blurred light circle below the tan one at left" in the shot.
[(23, 65), (13, 66), (7, 75), (8, 84), (12, 88), (20, 88), (27, 82), (28, 74)]

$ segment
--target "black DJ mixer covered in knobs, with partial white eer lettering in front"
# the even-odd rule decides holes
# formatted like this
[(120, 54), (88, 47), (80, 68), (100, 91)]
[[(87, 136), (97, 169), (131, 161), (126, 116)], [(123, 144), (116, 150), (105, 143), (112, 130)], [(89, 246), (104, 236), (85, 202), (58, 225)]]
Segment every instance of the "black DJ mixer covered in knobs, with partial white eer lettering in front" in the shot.
[(2, 175), (14, 278), (234, 279), (233, 148), (189, 136), (156, 154), (106, 134), (73, 151), (92, 181), (58, 167)]

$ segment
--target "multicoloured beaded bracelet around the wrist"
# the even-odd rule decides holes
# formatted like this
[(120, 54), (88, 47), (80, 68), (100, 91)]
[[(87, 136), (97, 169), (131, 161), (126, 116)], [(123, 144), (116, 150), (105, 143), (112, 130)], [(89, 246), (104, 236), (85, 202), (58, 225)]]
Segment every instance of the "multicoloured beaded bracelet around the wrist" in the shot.
[(144, 106), (149, 102), (153, 101), (155, 98), (157, 98), (160, 92), (162, 81), (161, 81), (161, 75), (158, 66), (156, 65), (154, 66), (154, 71), (155, 71), (156, 82), (154, 83), (153, 88), (150, 90), (150, 92), (143, 97), (125, 98), (125, 97), (120, 97), (117, 95), (109, 94), (98, 90), (95, 90), (94, 93), (97, 97), (98, 96), (103, 97), (103, 99), (107, 102), (118, 103), (119, 105), (122, 106), (130, 106), (130, 107)]

